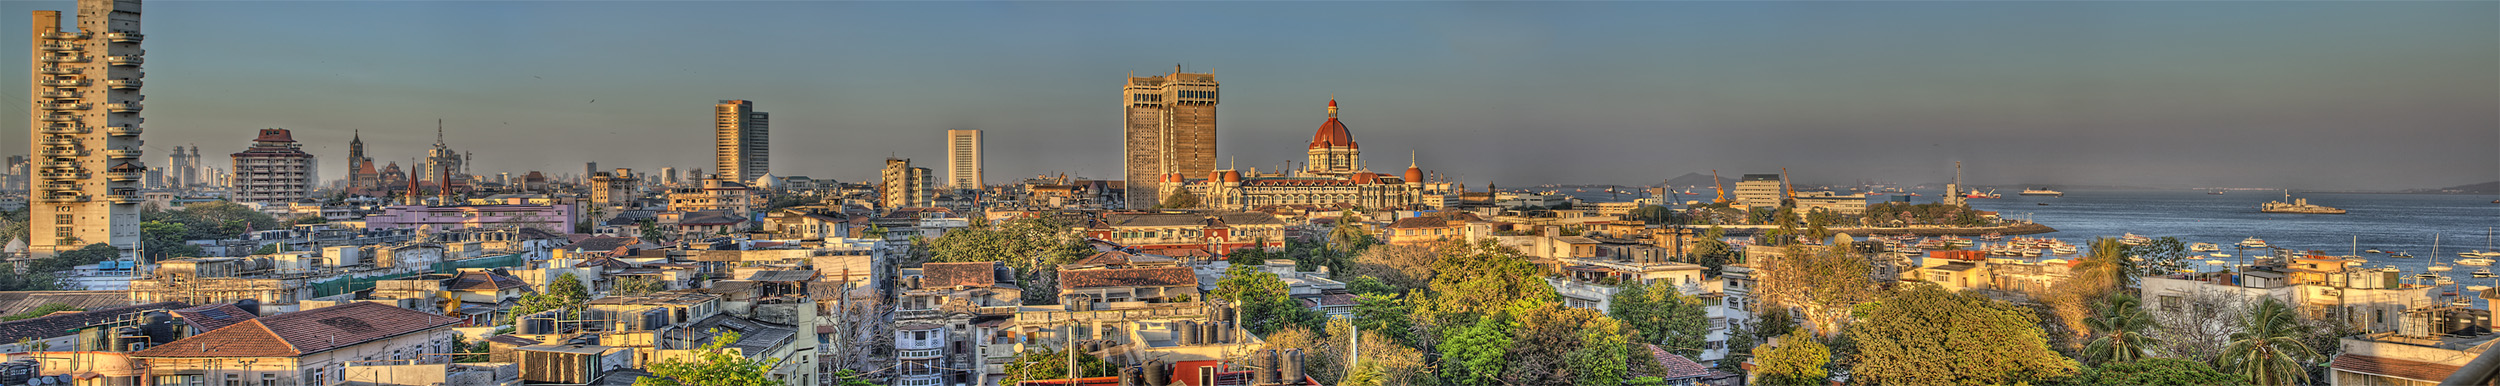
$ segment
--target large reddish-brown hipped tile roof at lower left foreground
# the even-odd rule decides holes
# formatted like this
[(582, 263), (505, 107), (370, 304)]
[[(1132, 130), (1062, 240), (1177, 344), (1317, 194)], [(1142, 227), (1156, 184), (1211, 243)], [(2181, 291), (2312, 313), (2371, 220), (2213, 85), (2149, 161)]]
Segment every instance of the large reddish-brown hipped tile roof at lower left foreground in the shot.
[(278, 313), (208, 331), (172, 343), (130, 353), (138, 358), (268, 358), (305, 356), (365, 341), (380, 341), (428, 328), (452, 326), (458, 318), (420, 313), (388, 303), (340, 303), (312, 311)]

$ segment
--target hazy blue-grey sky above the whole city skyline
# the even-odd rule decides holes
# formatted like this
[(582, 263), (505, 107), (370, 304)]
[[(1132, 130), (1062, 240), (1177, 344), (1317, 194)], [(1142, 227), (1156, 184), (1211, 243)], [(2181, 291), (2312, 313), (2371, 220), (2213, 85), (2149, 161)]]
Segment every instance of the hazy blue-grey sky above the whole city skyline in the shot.
[[(28, 10), (72, 3), (0, 0), (0, 30)], [(420, 158), (438, 118), (478, 173), (710, 168), (710, 108), (732, 98), (772, 113), (775, 175), (942, 168), (945, 130), (980, 128), (990, 183), (1118, 178), (1122, 78), (1180, 65), (1222, 83), (1220, 158), (1260, 170), (1302, 160), (1335, 95), (1375, 170), (1412, 153), (1470, 185), (1932, 183), (1952, 160), (1972, 185), (2500, 180), (2488, 0), (152, 0), (142, 18), (145, 160), (290, 128), (322, 178), (352, 133), (380, 163)], [(25, 45), (0, 55), (28, 73)]]

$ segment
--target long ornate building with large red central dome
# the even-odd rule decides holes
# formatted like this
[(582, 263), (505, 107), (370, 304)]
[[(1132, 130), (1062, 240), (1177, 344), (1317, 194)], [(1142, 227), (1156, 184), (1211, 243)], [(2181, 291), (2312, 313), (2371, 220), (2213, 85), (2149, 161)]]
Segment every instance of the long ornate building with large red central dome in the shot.
[(1415, 160), (1405, 173), (1372, 173), (1362, 163), (1362, 143), (1338, 120), (1338, 100), (1328, 100), (1328, 120), (1310, 133), (1308, 163), (1290, 173), (1220, 168), (1208, 175), (1162, 175), (1160, 196), (1188, 190), (1198, 208), (1252, 211), (1262, 206), (1355, 206), (1420, 208), (1445, 203), (1445, 180), (1430, 180)]

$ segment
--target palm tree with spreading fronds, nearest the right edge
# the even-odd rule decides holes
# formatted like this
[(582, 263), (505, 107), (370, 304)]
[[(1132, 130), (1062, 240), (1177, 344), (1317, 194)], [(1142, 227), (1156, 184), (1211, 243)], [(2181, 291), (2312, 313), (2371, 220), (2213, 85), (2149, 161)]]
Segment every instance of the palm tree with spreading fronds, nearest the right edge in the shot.
[(2220, 368), (2248, 376), (2250, 383), (2308, 383), (2310, 371), (2302, 366), (2318, 351), (2310, 351), (2302, 336), (2308, 333), (2292, 308), (2265, 298), (2240, 318), (2240, 333), (2230, 333)]

